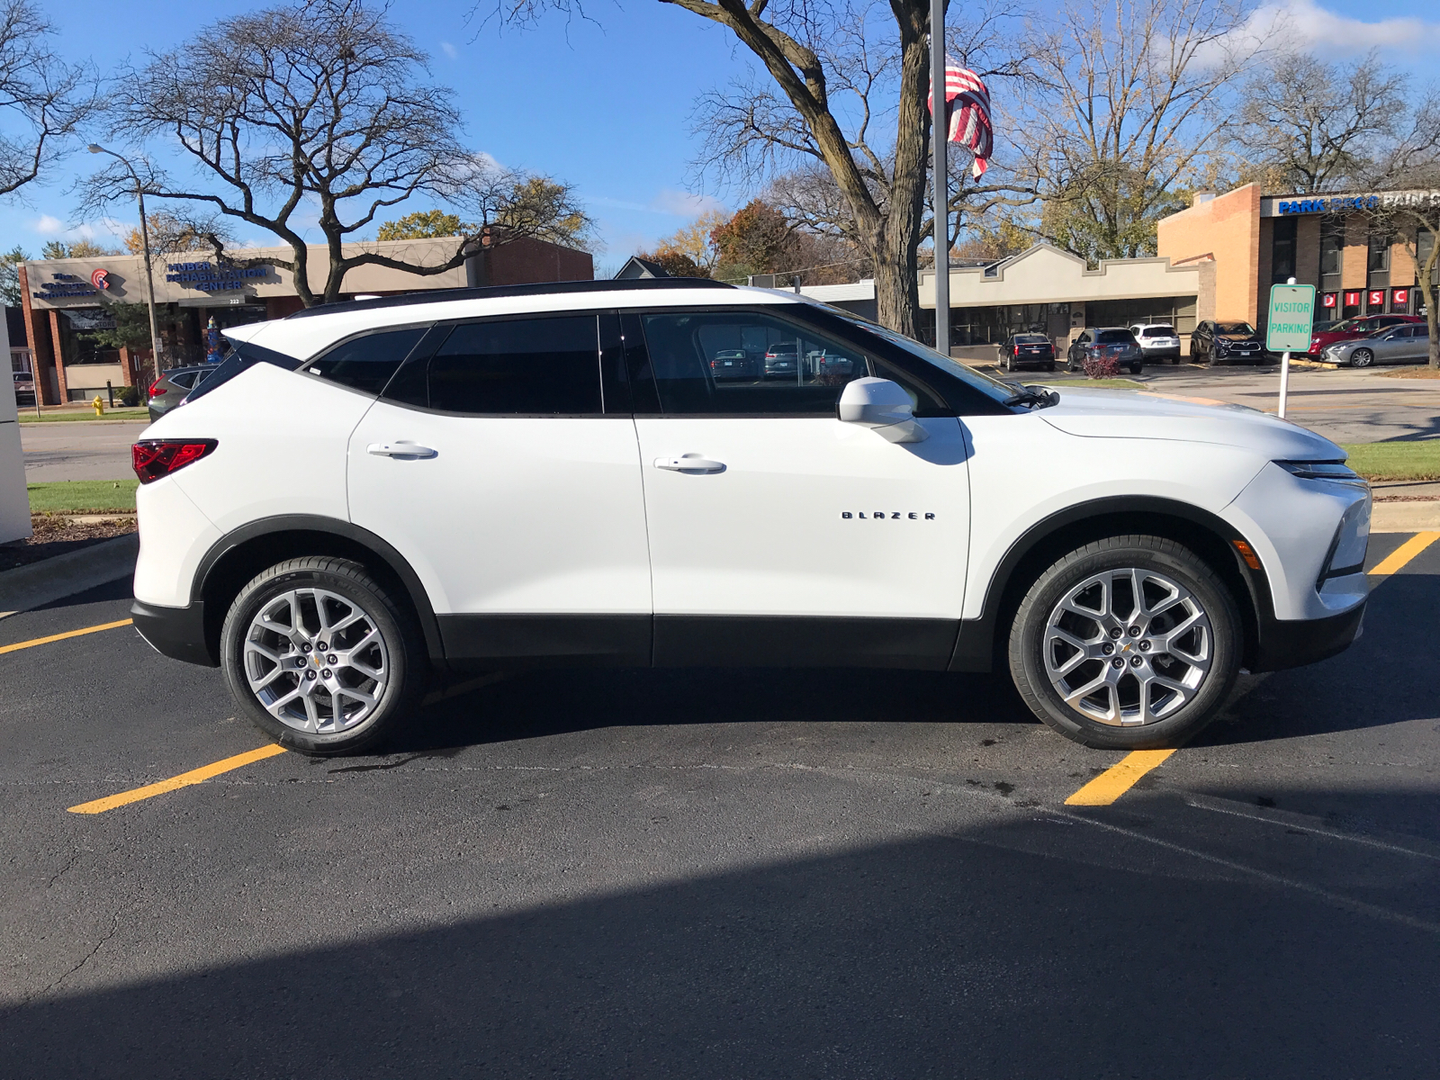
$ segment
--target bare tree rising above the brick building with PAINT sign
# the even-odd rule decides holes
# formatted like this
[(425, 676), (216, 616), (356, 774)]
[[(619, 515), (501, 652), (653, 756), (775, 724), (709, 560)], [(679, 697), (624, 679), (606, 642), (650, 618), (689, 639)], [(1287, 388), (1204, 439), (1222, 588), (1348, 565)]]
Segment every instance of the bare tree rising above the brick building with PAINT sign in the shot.
[(1246, 174), (1305, 194), (1354, 183), (1400, 134), (1405, 89), (1374, 52), (1348, 68), (1282, 53), (1244, 88)]

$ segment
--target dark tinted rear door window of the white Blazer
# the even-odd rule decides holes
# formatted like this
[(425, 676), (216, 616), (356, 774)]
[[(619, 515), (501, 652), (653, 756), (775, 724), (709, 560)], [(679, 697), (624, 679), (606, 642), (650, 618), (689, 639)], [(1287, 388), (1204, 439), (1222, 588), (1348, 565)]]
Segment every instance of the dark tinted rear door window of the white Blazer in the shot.
[(595, 315), (455, 327), (429, 361), (429, 408), (573, 416), (603, 410)]

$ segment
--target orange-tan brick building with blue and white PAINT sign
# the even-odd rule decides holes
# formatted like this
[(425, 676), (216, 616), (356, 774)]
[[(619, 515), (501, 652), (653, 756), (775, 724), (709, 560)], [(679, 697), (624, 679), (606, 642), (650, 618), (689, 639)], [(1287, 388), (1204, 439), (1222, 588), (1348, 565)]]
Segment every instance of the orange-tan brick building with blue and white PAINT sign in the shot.
[[(1172, 266), (1214, 264), (1214, 318), (1259, 324), (1270, 287), (1292, 276), (1315, 285), (1316, 321), (1416, 314), (1414, 233), (1387, 232), (1371, 213), (1395, 200), (1440, 204), (1440, 192), (1263, 196), (1259, 184), (1246, 184), (1200, 194), (1188, 210), (1161, 219), (1158, 253)], [(1420, 240), (1423, 259), (1433, 238)]]

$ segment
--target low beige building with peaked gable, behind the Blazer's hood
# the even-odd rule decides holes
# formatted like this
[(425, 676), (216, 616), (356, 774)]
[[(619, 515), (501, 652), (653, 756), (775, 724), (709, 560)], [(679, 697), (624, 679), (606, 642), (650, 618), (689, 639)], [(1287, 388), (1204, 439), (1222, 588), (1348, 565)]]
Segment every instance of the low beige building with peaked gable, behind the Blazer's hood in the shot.
[[(812, 289), (802, 289), (811, 292)], [(1214, 318), (1215, 268), (1208, 259), (1086, 261), (1048, 243), (989, 265), (950, 266), (950, 343), (988, 359), (1015, 333), (1044, 333), (1068, 346), (1083, 327), (1169, 323), (1181, 334)], [(935, 310), (935, 271), (920, 271), (920, 307)], [(933, 331), (930, 340), (933, 341)]]

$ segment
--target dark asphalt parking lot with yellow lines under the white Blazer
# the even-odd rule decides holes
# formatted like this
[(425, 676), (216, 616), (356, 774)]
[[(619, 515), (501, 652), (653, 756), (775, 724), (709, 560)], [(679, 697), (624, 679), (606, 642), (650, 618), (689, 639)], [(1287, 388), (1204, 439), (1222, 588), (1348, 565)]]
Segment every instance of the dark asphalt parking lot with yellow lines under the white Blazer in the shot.
[(514, 675), (304, 759), (125, 583), (12, 616), (0, 1076), (1431, 1074), (1434, 540), (1140, 760), (890, 671)]

